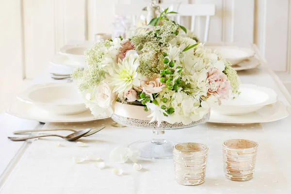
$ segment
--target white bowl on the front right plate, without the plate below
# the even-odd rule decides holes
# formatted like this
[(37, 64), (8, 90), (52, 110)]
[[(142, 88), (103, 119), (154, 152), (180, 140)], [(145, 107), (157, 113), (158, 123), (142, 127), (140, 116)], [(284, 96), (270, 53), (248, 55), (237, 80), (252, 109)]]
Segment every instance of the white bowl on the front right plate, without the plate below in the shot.
[(212, 110), (220, 114), (242, 115), (252, 113), (277, 101), (276, 92), (267, 87), (241, 84), (240, 92), (241, 94), (235, 99), (221, 100), (221, 106)]

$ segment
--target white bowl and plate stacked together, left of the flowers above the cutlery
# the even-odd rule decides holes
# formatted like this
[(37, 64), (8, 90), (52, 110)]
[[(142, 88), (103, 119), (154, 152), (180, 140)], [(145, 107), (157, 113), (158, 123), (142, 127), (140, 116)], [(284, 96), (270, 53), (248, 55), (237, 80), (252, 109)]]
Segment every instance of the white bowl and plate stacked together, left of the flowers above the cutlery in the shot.
[(17, 96), (6, 113), (44, 123), (75, 123), (108, 118), (92, 115), (73, 83), (32, 85)]

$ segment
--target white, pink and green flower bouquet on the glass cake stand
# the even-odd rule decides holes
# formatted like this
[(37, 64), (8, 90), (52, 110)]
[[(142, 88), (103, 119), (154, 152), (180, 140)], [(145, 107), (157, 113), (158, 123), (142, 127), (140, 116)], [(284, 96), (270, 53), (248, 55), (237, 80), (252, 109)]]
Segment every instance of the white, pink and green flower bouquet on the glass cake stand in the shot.
[[(88, 67), (72, 77), (94, 115), (111, 116), (116, 99), (140, 102), (150, 122), (190, 124), (239, 93), (237, 73), (218, 53), (164, 21), (130, 39), (95, 43)], [(138, 113), (137, 113), (138, 114)]]

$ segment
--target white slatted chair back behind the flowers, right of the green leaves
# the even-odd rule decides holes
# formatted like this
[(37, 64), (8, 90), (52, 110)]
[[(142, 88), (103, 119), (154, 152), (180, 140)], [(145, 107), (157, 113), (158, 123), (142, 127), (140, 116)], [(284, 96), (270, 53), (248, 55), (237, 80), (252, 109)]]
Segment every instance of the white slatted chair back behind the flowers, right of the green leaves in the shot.
[(206, 16), (203, 42), (207, 42), (210, 16), (215, 16), (215, 4), (181, 4), (179, 6), (178, 13), (178, 24), (180, 23), (180, 16), (191, 16), (191, 31), (194, 31), (196, 16)]

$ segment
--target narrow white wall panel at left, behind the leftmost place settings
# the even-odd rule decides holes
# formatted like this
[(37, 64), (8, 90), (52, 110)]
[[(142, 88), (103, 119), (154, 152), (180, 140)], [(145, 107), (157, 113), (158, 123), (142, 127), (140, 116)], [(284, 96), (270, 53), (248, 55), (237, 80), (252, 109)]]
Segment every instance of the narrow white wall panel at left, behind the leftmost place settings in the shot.
[(55, 53), (54, 1), (24, 0), (25, 75), (33, 78)]

